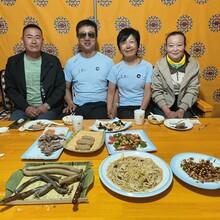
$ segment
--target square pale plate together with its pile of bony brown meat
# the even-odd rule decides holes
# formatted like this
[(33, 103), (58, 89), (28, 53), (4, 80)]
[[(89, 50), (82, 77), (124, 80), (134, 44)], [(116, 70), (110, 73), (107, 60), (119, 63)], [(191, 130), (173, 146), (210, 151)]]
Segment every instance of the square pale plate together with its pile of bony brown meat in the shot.
[(45, 128), (43, 134), (21, 156), (22, 159), (57, 159), (70, 135), (67, 127)]

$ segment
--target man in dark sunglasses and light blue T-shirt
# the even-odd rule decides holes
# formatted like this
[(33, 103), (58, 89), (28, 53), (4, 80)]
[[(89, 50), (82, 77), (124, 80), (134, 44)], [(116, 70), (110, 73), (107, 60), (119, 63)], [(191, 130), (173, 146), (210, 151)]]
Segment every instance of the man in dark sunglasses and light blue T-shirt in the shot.
[(85, 119), (108, 118), (107, 76), (114, 63), (96, 50), (98, 32), (95, 22), (80, 21), (76, 34), (80, 52), (70, 58), (64, 68), (67, 107), (63, 112), (74, 112)]

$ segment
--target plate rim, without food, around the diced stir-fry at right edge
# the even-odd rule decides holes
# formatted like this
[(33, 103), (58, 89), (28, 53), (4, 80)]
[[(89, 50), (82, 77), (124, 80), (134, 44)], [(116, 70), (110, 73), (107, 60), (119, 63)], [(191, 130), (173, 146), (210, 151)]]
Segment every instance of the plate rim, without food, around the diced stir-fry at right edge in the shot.
[(211, 162), (213, 162), (214, 166), (220, 167), (220, 160), (217, 159), (217, 158), (214, 158), (212, 156), (205, 155), (205, 154), (187, 152), (187, 153), (177, 154), (176, 156), (174, 156), (172, 158), (170, 166), (171, 166), (171, 169), (172, 169), (173, 173), (178, 178), (180, 178), (182, 181), (184, 181), (184, 182), (186, 182), (186, 183), (188, 183), (192, 186), (202, 188), (202, 189), (220, 189), (220, 182), (217, 182), (217, 183), (207, 183), (207, 182), (206, 183), (200, 183), (200, 182), (197, 182), (196, 180), (191, 178), (180, 167), (181, 161), (184, 160), (184, 159), (188, 159), (190, 157), (193, 157), (196, 162), (199, 162), (199, 160), (201, 160), (201, 159), (210, 160)]

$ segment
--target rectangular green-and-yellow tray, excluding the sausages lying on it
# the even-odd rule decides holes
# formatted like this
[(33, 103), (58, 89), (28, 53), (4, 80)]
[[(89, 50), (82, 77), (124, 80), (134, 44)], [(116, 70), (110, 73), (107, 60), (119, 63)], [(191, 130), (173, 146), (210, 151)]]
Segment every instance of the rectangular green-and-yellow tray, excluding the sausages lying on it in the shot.
[[(79, 203), (82, 202), (88, 202), (88, 198), (86, 197), (87, 190), (89, 186), (92, 184), (94, 179), (94, 171), (90, 167), (91, 162), (64, 162), (64, 163), (27, 163), (25, 164), (25, 167), (27, 166), (40, 166), (45, 164), (64, 164), (64, 165), (70, 165), (74, 166), (79, 169), (85, 170), (85, 180), (83, 185), (83, 191), (80, 194), (80, 198), (78, 200)], [(23, 169), (22, 168), (22, 169)], [(6, 183), (6, 194), (3, 199), (6, 199), (13, 195), (13, 192), (16, 188), (18, 188), (22, 183), (28, 181), (32, 177), (24, 176), (22, 169), (17, 170), (15, 173), (11, 175), (9, 180)], [(44, 185), (45, 183), (42, 181), (37, 181), (31, 185), (29, 185), (27, 188), (25, 188), (24, 191), (27, 191), (29, 189), (33, 189), (35, 187), (38, 187), (39, 185)], [(72, 203), (72, 199), (74, 197), (76, 188), (78, 186), (79, 182), (75, 182), (71, 184), (70, 186), (73, 186), (73, 190), (69, 195), (60, 195), (58, 194), (54, 189), (52, 189), (49, 193), (46, 195), (38, 198), (35, 198), (33, 195), (30, 197), (24, 199), (24, 200), (15, 200), (10, 203), (7, 203), (6, 205), (24, 205), (24, 204), (58, 204), (58, 203)]]

